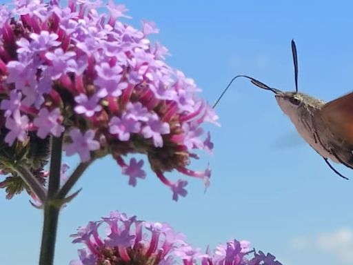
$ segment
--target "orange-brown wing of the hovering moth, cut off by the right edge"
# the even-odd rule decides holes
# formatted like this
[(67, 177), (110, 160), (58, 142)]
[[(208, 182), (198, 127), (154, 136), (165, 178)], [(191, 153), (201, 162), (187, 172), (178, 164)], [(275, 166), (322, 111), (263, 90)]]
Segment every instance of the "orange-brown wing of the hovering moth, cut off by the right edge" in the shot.
[(353, 146), (353, 92), (327, 102), (319, 115), (333, 135)]

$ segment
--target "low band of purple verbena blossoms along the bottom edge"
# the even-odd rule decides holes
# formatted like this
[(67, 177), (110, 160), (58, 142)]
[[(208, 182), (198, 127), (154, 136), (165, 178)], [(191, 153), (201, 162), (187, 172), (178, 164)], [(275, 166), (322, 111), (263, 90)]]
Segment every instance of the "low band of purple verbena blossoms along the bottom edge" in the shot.
[[(108, 226), (105, 238), (99, 235), (103, 224)], [(213, 254), (201, 253), (168, 224), (138, 221), (136, 216), (118, 211), (78, 228), (71, 236), (73, 243), (83, 243), (88, 249), (80, 249), (79, 260), (70, 265), (281, 265), (273, 255), (257, 253), (250, 249), (249, 242), (235, 239), (219, 244)]]

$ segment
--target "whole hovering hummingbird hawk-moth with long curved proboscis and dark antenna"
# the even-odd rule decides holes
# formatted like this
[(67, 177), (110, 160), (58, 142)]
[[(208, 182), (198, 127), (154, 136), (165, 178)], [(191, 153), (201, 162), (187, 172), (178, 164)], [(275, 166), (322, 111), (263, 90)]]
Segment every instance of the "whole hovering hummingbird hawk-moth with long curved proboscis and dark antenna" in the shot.
[(292, 40), (292, 55), (294, 92), (283, 92), (247, 75), (237, 75), (223, 90), (213, 108), (236, 78), (250, 79), (255, 86), (274, 92), (277, 104), (288, 115), (299, 135), (323, 157), (334, 173), (347, 179), (333, 168), (328, 159), (353, 169), (353, 92), (329, 102), (298, 92), (298, 59), (294, 40)]

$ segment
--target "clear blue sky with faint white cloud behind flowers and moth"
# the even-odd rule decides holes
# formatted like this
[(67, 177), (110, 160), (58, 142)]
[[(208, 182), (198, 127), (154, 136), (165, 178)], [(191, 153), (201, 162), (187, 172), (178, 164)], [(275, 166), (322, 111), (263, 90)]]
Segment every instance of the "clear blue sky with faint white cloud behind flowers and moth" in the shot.
[[(1, 2), (0, 2), (1, 3)], [(211, 103), (234, 75), (246, 74), (281, 90), (294, 89), (290, 41), (299, 55), (299, 90), (329, 101), (352, 90), (351, 1), (117, 1), (139, 26), (155, 21), (154, 36), (172, 54), (170, 65), (192, 77)], [(83, 191), (61, 213), (56, 264), (77, 257), (70, 233), (118, 209), (168, 222), (205, 248), (236, 237), (273, 253), (285, 265), (353, 264), (353, 172), (344, 181), (307, 146), (271, 92), (237, 80), (217, 106), (221, 128), (209, 126), (212, 183), (175, 203), (152, 173), (128, 186), (110, 158), (79, 181)], [(74, 166), (76, 161), (69, 159)], [(177, 174), (176, 174), (177, 175)], [(1, 192), (1, 197), (5, 194)], [(1, 264), (36, 264), (41, 212), (21, 195), (1, 202)], [(21, 254), (20, 254), (21, 253)]]

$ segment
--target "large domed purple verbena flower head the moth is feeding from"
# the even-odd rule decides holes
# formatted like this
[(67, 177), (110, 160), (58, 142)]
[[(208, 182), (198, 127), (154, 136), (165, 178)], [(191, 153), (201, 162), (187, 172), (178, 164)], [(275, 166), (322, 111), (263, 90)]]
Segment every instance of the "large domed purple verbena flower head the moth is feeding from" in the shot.
[[(123, 157), (144, 154), (177, 200), (187, 182), (164, 173), (179, 170), (208, 184), (209, 169), (187, 167), (194, 150), (212, 148), (200, 126), (217, 117), (197, 97), (194, 81), (165, 63), (168, 50), (149, 41), (159, 31), (154, 23), (143, 21), (137, 30), (121, 21), (124, 6), (109, 1), (106, 7), (99, 14), (101, 1), (1, 6), (0, 155), (41, 171), (43, 163), (33, 163), (28, 150), (63, 135), (66, 155), (86, 162), (111, 154), (134, 186), (145, 177), (143, 162)], [(37, 155), (45, 161), (48, 152)], [(16, 177), (11, 165), (0, 163)]]

